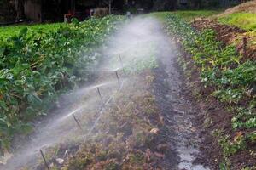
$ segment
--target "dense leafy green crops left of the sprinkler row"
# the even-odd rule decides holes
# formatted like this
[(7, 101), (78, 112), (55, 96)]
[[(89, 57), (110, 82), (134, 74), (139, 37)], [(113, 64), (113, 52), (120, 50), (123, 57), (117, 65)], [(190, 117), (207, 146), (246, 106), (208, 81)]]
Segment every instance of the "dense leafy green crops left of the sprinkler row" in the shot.
[(0, 30), (0, 150), (9, 148), (15, 133), (31, 133), (30, 122), (45, 115), (60, 94), (90, 79), (101, 59), (96, 48), (121, 20)]

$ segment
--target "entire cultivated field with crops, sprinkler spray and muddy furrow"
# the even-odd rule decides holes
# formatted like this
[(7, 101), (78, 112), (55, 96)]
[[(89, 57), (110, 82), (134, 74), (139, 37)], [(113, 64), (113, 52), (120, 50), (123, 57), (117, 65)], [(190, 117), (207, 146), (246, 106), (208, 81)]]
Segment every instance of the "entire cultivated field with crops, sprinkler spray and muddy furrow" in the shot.
[(0, 168), (254, 170), (256, 16), (223, 12), (1, 27)]

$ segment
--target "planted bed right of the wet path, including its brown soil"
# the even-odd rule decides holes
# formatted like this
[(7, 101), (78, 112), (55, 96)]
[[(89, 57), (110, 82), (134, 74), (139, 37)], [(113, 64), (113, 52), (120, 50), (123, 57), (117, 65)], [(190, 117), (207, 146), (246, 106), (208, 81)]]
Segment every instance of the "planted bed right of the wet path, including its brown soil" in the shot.
[[(223, 120), (211, 120), (211, 110), (206, 113), (210, 115), (210, 118), (205, 120), (207, 126), (218, 124), (209, 132), (222, 148), (223, 159), (219, 160), (220, 164), (216, 169), (255, 168), (255, 61), (241, 62), (242, 57), (237, 54), (236, 48), (218, 42), (215, 31), (211, 29), (195, 31), (189, 24), (172, 14), (166, 16), (165, 24), (166, 31), (176, 37), (177, 44), (180, 44), (185, 52), (180, 60), (186, 75), (191, 78), (198, 72), (201, 88), (207, 89), (205, 94), (200, 94), (196, 88), (191, 93), (196, 98), (207, 97), (208, 101), (213, 96), (218, 99), (219, 105), (224, 105), (224, 111), (229, 112), (223, 117), (226, 119), (224, 122), (227, 122), (224, 126)], [(212, 107), (218, 107), (217, 103), (213, 103)], [(223, 112), (214, 116), (220, 117), (218, 114)], [(230, 127), (227, 127), (227, 124)], [(242, 161), (237, 161), (239, 156), (247, 158), (241, 157)]]

